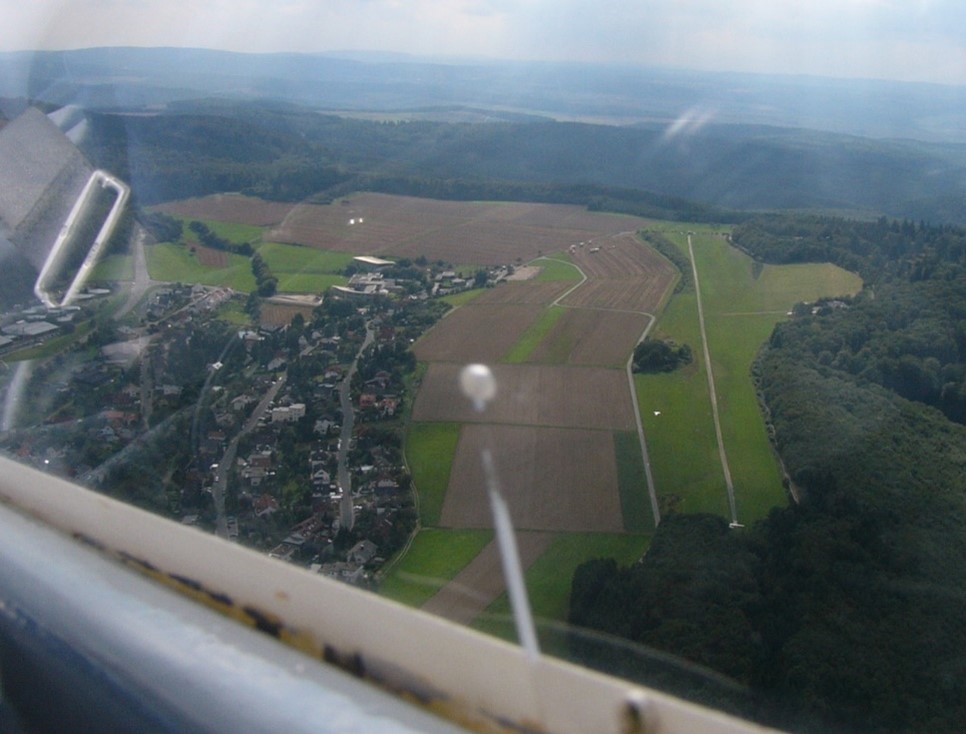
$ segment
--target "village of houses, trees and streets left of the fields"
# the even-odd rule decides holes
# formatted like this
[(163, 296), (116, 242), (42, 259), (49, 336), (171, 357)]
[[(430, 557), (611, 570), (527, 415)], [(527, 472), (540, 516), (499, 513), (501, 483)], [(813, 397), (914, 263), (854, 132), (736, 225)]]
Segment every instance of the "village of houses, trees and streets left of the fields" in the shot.
[[(64, 323), (69, 333), (82, 324), (82, 338), (7, 366), (8, 391), (31, 399), (7, 401), (19, 407), (3, 417), (0, 450), (371, 585), (417, 521), (402, 455), (406, 401), (419, 379), (410, 346), (449, 308), (432, 295), (474, 281), (438, 268), (389, 278), (380, 271), (395, 263), (359, 260), (346, 287), (295, 309), (288, 324), (229, 323), (224, 314), (245, 294), (202, 285), (155, 289), (136, 323), (86, 302), (71, 309)], [(63, 334), (64, 315), (6, 315), (6, 349)], [(34, 385), (45, 386), (42, 397)]]

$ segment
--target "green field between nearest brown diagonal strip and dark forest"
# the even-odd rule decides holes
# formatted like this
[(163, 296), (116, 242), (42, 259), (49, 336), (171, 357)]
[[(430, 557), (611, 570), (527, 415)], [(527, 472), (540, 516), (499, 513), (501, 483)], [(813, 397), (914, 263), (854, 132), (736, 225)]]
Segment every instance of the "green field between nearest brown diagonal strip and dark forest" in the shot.
[[(650, 542), (649, 535), (609, 533), (560, 533), (526, 571), (527, 593), (538, 625), (541, 646), (549, 652), (562, 643), (552, 629), (539, 629), (541, 622), (564, 622), (570, 604), (570, 582), (574, 569), (591, 558), (615, 558), (622, 565), (638, 560)], [(510, 602), (502, 594), (473, 623), (473, 627), (506, 639), (516, 630)], [(561, 651), (562, 652), (562, 651)]]

